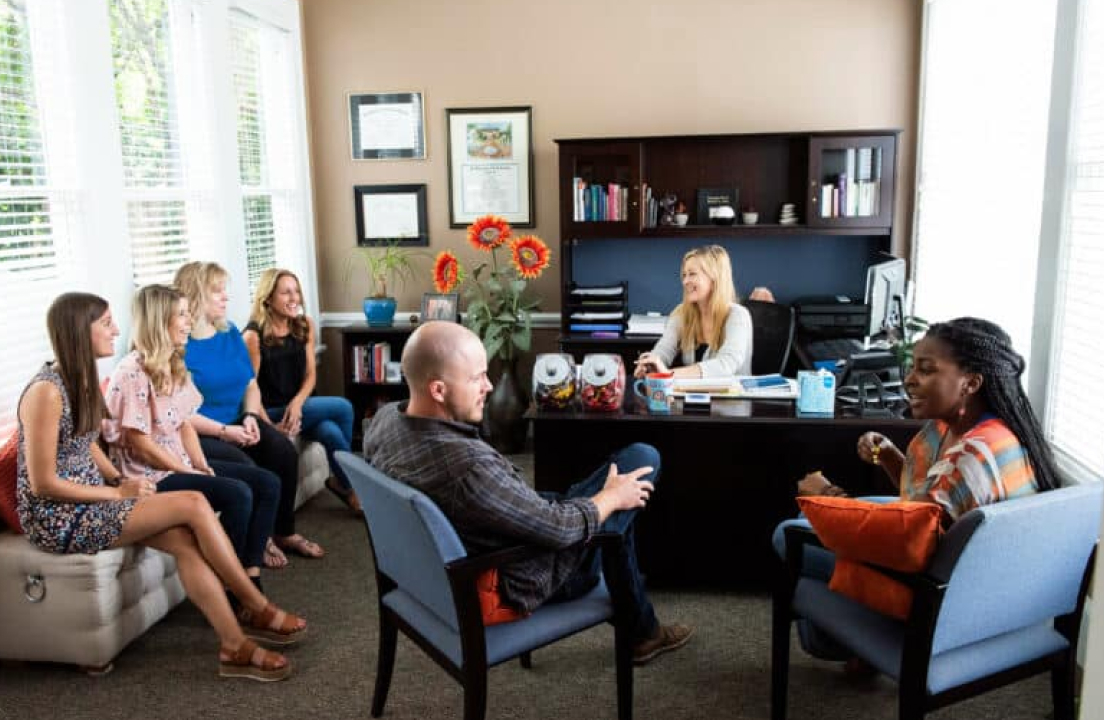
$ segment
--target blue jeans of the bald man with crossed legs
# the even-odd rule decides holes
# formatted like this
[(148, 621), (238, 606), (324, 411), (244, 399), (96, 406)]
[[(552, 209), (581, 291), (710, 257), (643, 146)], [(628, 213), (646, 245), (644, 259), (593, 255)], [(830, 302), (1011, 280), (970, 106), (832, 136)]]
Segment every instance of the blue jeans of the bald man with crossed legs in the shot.
[[(640, 477), (641, 480), (650, 480), (658, 487), (659, 479), (659, 452), (651, 445), (634, 443), (624, 449), (614, 453), (609, 460), (591, 474), (585, 480), (576, 483), (567, 488), (563, 495), (555, 493), (541, 493), (546, 498), (578, 498), (594, 497), (606, 484), (606, 476), (609, 473), (609, 464), (616, 463), (618, 473), (628, 473), (638, 467), (650, 465), (655, 469)], [(631, 597), (633, 613), (633, 637), (636, 642), (647, 639), (655, 635), (659, 621), (656, 620), (656, 610), (648, 600), (648, 593), (644, 587), (644, 578), (640, 576), (640, 568), (636, 560), (636, 541), (633, 532), (633, 520), (636, 519), (638, 510), (618, 510), (614, 512), (598, 532), (616, 532), (622, 536), (625, 543), (625, 551), (622, 560), (617, 563), (614, 572), (616, 578), (606, 578), (609, 584), (619, 583), (627, 589), (627, 594)], [(588, 593), (598, 583), (602, 572), (602, 552), (593, 548), (583, 555), (575, 572), (553, 593), (549, 602), (563, 602), (574, 600)]]

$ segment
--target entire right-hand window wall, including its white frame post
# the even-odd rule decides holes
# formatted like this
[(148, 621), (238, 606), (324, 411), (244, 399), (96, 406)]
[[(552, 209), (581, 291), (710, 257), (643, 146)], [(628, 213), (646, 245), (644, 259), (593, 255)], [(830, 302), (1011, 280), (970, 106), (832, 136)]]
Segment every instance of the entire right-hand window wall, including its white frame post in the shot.
[(1098, 479), (1104, 0), (1012, 8), (925, 6), (916, 313), (1002, 325), (1063, 473)]

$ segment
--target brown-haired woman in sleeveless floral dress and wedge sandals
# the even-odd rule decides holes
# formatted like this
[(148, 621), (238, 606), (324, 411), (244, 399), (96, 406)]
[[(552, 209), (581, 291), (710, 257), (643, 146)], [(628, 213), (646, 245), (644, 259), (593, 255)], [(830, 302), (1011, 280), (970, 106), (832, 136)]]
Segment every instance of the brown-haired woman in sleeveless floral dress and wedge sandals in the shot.
[[(287, 645), (306, 635), (307, 624), (250, 582), (203, 496), (155, 494), (153, 483), (125, 477), (95, 442), (107, 414), (96, 360), (114, 354), (119, 333), (107, 301), (66, 293), (50, 306), (46, 326), (55, 360), (31, 379), (19, 401), (17, 497), (28, 540), (57, 553), (139, 543), (173, 555), (188, 596), (219, 635), (219, 674), (288, 677), (290, 661), (250, 637)], [(246, 610), (241, 625), (223, 583)]]

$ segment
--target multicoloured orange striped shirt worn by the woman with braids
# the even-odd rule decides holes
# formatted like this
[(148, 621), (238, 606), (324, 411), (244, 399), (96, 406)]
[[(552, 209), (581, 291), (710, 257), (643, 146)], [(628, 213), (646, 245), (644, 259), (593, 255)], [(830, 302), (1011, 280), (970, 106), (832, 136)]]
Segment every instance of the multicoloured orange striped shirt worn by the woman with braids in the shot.
[(981, 505), (1039, 490), (1027, 451), (999, 417), (983, 417), (941, 453), (946, 432), (946, 423), (930, 421), (909, 443), (901, 468), (902, 500), (935, 502), (954, 521)]

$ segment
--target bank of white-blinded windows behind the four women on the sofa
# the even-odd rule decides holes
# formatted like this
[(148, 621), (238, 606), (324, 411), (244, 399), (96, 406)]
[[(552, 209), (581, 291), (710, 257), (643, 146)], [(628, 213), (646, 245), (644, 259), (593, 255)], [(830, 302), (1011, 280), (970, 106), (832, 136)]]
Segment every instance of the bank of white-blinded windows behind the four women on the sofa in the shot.
[(120, 354), (135, 286), (187, 261), (238, 324), (264, 267), (315, 293), (299, 45), (297, 0), (0, 0), (0, 437), (64, 290), (107, 298)]

